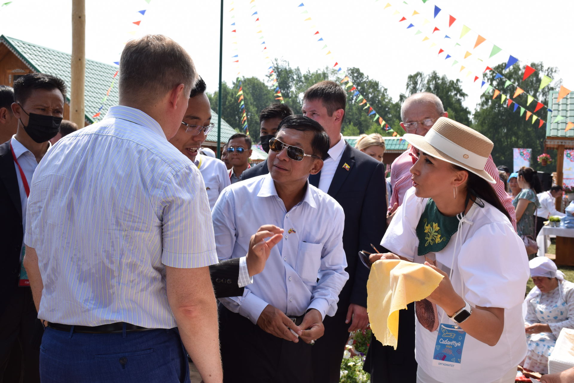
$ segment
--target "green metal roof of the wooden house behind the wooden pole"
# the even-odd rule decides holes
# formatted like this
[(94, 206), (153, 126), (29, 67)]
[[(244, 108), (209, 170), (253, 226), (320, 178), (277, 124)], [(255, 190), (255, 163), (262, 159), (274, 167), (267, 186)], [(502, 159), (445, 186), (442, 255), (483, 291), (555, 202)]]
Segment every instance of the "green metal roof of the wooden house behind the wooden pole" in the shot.
[[(68, 85), (71, 84), (70, 75), (70, 61), (72, 56), (68, 53), (56, 51), (55, 49), (41, 47), (40, 45), (32, 44), (30, 42), (17, 40), (16, 38), (0, 36), (0, 44), (5, 44), (10, 51), (17, 55), (24, 63), (26, 63), (35, 72), (48, 73), (49, 75), (58, 76), (63, 79)], [(102, 99), (106, 95), (108, 88), (114, 80), (114, 74), (119, 69), (118, 65), (104, 64), (99, 61), (86, 59), (86, 93), (85, 93), (85, 109), (86, 120), (89, 122), (96, 122), (101, 120), (110, 106), (118, 105), (118, 79), (119, 74), (115, 78), (114, 86), (111, 88), (110, 95), (108, 95), (102, 110), (100, 110), (100, 117), (92, 117), (100, 106), (102, 106)], [(69, 97), (66, 98), (69, 103)], [(217, 125), (218, 115), (213, 110), (211, 111), (211, 121)], [(221, 142), (227, 142), (229, 137), (238, 133), (227, 122), (223, 121), (221, 124)], [(217, 142), (217, 126), (210, 131), (207, 135), (207, 141)]]

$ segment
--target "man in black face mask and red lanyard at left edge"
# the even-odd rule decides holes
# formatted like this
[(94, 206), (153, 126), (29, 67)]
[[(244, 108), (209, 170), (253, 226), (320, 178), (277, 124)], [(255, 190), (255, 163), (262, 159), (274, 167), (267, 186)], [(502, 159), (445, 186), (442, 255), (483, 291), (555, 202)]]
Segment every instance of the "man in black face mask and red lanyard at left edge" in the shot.
[[(44, 327), (37, 319), (28, 276), (22, 267), (26, 202), (32, 175), (58, 133), (67, 86), (44, 73), (14, 82), (11, 113), (18, 119), (16, 134), (0, 145), (0, 381), (10, 351), (17, 347), (22, 381), (38, 382), (40, 342)], [(11, 367), (12, 368), (12, 367)]]

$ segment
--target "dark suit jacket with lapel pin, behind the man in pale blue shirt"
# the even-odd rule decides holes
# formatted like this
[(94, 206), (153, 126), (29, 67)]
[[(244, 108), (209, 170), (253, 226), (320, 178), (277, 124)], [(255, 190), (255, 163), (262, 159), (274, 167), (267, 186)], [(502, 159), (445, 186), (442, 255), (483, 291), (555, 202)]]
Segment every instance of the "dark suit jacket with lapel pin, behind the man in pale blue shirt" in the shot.
[(370, 243), (381, 250), (379, 243), (386, 230), (385, 193), (383, 164), (345, 142), (343, 156), (328, 191), (345, 212), (343, 249), (347, 256), (349, 280), (339, 294), (338, 310), (347, 312), (347, 307), (342, 306), (348, 303), (367, 307), (369, 269), (360, 261), (359, 251), (372, 253)]

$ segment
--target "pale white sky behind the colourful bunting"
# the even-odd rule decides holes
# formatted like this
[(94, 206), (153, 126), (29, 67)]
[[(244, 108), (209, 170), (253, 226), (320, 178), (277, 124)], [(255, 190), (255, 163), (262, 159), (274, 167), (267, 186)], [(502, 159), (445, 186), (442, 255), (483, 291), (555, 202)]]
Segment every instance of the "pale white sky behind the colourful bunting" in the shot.
[[(572, 1), (250, 1), (234, 0), (233, 5), (231, 0), (224, 1), (223, 80), (227, 82), (236, 77), (235, 59), (231, 59), (236, 54), (242, 75), (264, 78), (269, 64), (261, 49), (266, 46), (271, 58), (280, 57), (303, 70), (332, 66), (335, 61), (343, 68), (358, 67), (387, 87), (394, 100), (405, 92), (409, 74), (436, 70), (451, 79), (463, 80), (469, 95), (466, 106), (471, 111), (481, 94), (480, 80), (473, 83), (474, 76), (480, 76), (486, 65), (506, 62), (509, 55), (521, 64), (544, 61), (546, 66), (558, 67), (564, 86), (574, 89), (574, 52), (568, 41), (574, 14)], [(304, 7), (298, 7), (301, 2)], [(391, 7), (384, 9), (387, 2)], [(435, 4), (441, 8), (436, 19)], [(234, 11), (230, 13), (231, 8)], [(138, 11), (144, 9), (145, 16), (141, 16)], [(301, 14), (304, 10), (308, 13)], [(395, 10), (400, 14), (393, 15)], [(412, 16), (414, 10), (420, 14)], [(258, 12), (260, 27), (256, 26), (257, 16), (251, 16), (254, 11)], [(231, 19), (233, 14), (235, 18)], [(457, 19), (450, 28), (449, 14)], [(398, 22), (401, 16), (407, 20)], [(304, 21), (307, 17), (312, 20)], [(425, 19), (430, 22), (423, 26)], [(139, 26), (131, 24), (138, 20)], [(111, 64), (119, 60), (123, 43), (130, 38), (162, 33), (191, 54), (208, 91), (218, 86), (219, 1), (151, 0), (148, 4), (145, 0), (86, 0), (86, 23), (88, 59)], [(410, 23), (414, 28), (406, 29)], [(463, 25), (472, 30), (459, 40)], [(435, 26), (440, 31), (432, 33)], [(233, 33), (236, 40), (231, 39), (232, 29), (237, 30)], [(256, 33), (258, 30), (262, 33)], [(317, 30), (320, 34), (313, 35)], [(417, 30), (422, 33), (415, 36)], [(129, 33), (133, 31), (135, 34)], [(71, 53), (71, 0), (14, 0), (0, 9), (0, 33)], [(477, 33), (487, 40), (474, 49)], [(444, 38), (445, 34), (451, 39)], [(424, 36), (430, 40), (422, 42)], [(317, 42), (320, 37), (324, 41)], [(266, 44), (261, 45), (262, 41)], [(436, 47), (429, 48), (433, 42)], [(456, 42), (461, 47), (455, 47)], [(321, 50), (324, 44), (328, 48)], [(489, 60), (492, 44), (503, 50)], [(232, 51), (235, 47), (238, 51)], [(437, 55), (439, 48), (453, 57), (445, 60), (445, 53)], [(327, 51), (332, 54), (326, 56)], [(464, 59), (466, 51), (472, 53), (468, 59)], [(459, 64), (451, 66), (453, 59)], [(461, 65), (466, 67), (463, 71)], [(472, 74), (467, 77), (469, 70)]]

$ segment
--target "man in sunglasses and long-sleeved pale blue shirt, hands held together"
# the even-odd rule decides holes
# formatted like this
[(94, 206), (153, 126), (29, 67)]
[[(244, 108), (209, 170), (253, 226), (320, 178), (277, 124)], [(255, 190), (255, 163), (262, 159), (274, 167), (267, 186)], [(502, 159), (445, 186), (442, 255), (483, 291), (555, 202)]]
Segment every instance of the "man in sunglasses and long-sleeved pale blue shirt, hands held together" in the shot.
[(284, 230), (243, 295), (220, 300), (226, 382), (311, 382), (311, 346), (348, 278), (343, 209), (308, 182), (323, 167), (327, 133), (310, 118), (290, 115), (269, 147), (269, 174), (226, 188), (213, 210), (220, 261), (243, 256), (259, 226)]

